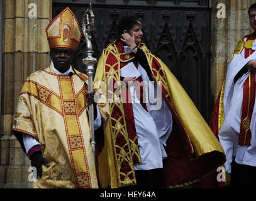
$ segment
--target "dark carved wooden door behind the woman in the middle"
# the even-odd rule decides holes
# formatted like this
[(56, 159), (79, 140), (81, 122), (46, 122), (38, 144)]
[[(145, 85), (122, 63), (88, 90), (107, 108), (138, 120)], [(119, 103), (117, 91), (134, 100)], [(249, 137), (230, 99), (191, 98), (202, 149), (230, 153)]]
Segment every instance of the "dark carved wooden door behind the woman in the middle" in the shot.
[[(208, 0), (53, 0), (53, 17), (66, 6), (82, 24), (82, 14), (92, 3), (95, 15), (93, 45), (96, 58), (116, 39), (121, 17), (142, 19), (143, 41), (170, 68), (206, 121), (211, 116), (210, 18)], [(75, 67), (82, 64), (86, 45), (82, 38), (75, 54)]]

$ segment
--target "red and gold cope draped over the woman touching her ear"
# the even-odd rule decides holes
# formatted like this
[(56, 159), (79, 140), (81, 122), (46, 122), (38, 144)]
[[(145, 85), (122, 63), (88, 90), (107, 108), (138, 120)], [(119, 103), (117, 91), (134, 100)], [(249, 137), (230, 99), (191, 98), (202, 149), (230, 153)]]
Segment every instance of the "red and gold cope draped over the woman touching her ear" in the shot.
[[(165, 147), (168, 157), (163, 161), (163, 185), (189, 185), (223, 165), (225, 153), (169, 68), (152, 55), (144, 43), (140, 43), (138, 48), (145, 53), (153, 77), (162, 89), (162, 97), (174, 120), (172, 133)], [(111, 185), (116, 188), (136, 183), (133, 164), (140, 162), (140, 152), (133, 110), (131, 104), (121, 102), (122, 87), (118, 85), (120, 68), (133, 58), (133, 53), (124, 53), (121, 40), (116, 40), (103, 50), (97, 65), (94, 81), (103, 81), (108, 99), (114, 100), (109, 101), (111, 121), (105, 131), (107, 147), (103, 149), (108, 151), (108, 157), (99, 157), (102, 187)]]

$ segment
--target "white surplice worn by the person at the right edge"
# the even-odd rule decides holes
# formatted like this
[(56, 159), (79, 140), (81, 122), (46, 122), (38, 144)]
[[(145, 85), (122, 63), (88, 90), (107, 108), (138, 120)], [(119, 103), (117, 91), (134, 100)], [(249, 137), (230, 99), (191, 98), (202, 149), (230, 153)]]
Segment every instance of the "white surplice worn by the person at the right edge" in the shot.
[[(246, 41), (246, 38), (245, 38)], [(245, 59), (244, 49), (240, 55), (235, 54), (228, 66), (224, 93), (225, 121), (219, 133), (221, 146), (226, 153), (225, 168), (231, 173), (231, 162), (235, 156), (235, 162), (242, 165), (256, 166), (256, 104), (253, 108), (250, 130), (252, 133), (251, 145), (238, 145), (240, 123), (242, 116), (243, 84), (250, 72), (240, 77), (234, 84), (235, 75), (248, 63), (256, 59), (256, 52)]]

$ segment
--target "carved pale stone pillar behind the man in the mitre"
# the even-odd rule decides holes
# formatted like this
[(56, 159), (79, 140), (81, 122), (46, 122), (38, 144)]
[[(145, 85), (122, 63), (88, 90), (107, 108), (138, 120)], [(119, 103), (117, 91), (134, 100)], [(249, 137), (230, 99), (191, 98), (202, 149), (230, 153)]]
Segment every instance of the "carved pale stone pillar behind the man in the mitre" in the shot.
[(3, 0), (0, 188), (31, 187), (30, 160), (11, 134), (16, 103), (24, 81), (50, 62), (45, 28), (52, 0)]

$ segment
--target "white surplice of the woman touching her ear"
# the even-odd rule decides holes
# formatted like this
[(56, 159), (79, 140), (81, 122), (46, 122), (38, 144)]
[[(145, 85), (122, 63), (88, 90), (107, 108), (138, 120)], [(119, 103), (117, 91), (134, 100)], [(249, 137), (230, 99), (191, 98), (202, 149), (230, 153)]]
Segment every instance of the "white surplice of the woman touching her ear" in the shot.
[[(131, 50), (125, 46), (125, 52)], [(151, 170), (163, 167), (163, 158), (167, 157), (164, 146), (172, 131), (172, 114), (162, 98), (157, 86), (153, 85), (145, 69), (138, 63), (138, 69), (133, 62), (121, 68), (121, 77), (140, 77), (145, 85), (147, 111), (136, 97), (135, 85), (130, 86), (133, 116), (142, 163), (135, 164), (135, 170)], [(158, 99), (154, 98), (157, 96)], [(151, 100), (151, 102), (149, 101)], [(157, 104), (155, 104), (155, 100)]]

